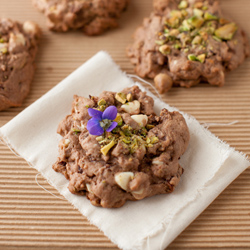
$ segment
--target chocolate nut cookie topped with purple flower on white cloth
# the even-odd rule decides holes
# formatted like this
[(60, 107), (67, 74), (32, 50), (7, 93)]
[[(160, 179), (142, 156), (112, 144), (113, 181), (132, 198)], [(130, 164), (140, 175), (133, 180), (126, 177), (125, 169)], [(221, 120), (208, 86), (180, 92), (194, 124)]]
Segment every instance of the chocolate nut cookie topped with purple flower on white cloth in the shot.
[(174, 190), (189, 131), (179, 112), (163, 109), (157, 116), (153, 106), (137, 86), (74, 96), (72, 113), (57, 130), (63, 139), (53, 165), (69, 180), (70, 192), (111, 208)]

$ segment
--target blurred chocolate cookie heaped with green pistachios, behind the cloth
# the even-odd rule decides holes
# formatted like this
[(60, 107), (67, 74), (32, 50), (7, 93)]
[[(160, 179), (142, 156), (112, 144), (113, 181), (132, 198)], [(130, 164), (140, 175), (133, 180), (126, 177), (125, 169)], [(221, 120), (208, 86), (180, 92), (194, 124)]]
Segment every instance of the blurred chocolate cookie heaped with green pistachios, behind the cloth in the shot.
[(225, 72), (249, 56), (244, 31), (223, 18), (218, 1), (154, 0), (127, 49), (135, 72), (155, 78), (159, 92), (200, 82), (223, 86)]

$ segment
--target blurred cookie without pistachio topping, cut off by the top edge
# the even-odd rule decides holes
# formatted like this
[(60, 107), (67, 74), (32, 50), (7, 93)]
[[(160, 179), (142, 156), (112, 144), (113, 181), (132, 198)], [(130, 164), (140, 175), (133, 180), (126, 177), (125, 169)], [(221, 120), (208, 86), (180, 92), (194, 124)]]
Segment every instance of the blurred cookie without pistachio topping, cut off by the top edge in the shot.
[(117, 20), (129, 0), (33, 0), (47, 17), (50, 30), (65, 32), (81, 29), (87, 35), (99, 35), (118, 26)]

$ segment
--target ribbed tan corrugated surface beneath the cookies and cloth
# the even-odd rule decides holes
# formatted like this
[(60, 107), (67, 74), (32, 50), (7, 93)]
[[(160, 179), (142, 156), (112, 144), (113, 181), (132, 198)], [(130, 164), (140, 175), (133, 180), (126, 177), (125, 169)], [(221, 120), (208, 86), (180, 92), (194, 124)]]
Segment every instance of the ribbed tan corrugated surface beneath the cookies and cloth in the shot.
[[(225, 12), (244, 26), (250, 36), (250, 0), (222, 0), (221, 3)], [(119, 29), (100, 37), (86, 37), (80, 32), (55, 34), (47, 31), (43, 15), (32, 7), (31, 0), (1, 0), (1, 16), (20, 21), (34, 20), (44, 34), (31, 92), (21, 108), (0, 112), (0, 126), (99, 50), (108, 51), (122, 70), (133, 73), (125, 48), (132, 41), (135, 28), (151, 9), (152, 0), (131, 0)], [(227, 76), (223, 88), (207, 85), (174, 88), (162, 98), (200, 122), (229, 123), (237, 120), (235, 125), (215, 125), (209, 129), (232, 147), (250, 155), (249, 59)], [(36, 174), (36, 170), (0, 143), (1, 250), (118, 249), (66, 200), (60, 200), (39, 187)], [(37, 180), (58, 195), (41, 176)], [(250, 249), (250, 169), (242, 173), (168, 249), (218, 248)]]

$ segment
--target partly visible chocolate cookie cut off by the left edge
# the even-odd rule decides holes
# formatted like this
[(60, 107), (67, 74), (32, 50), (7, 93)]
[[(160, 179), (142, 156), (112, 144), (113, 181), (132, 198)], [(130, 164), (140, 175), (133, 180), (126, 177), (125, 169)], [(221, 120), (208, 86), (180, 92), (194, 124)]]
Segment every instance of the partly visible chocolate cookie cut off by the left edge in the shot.
[(39, 37), (33, 22), (0, 18), (0, 111), (20, 106), (28, 95)]

